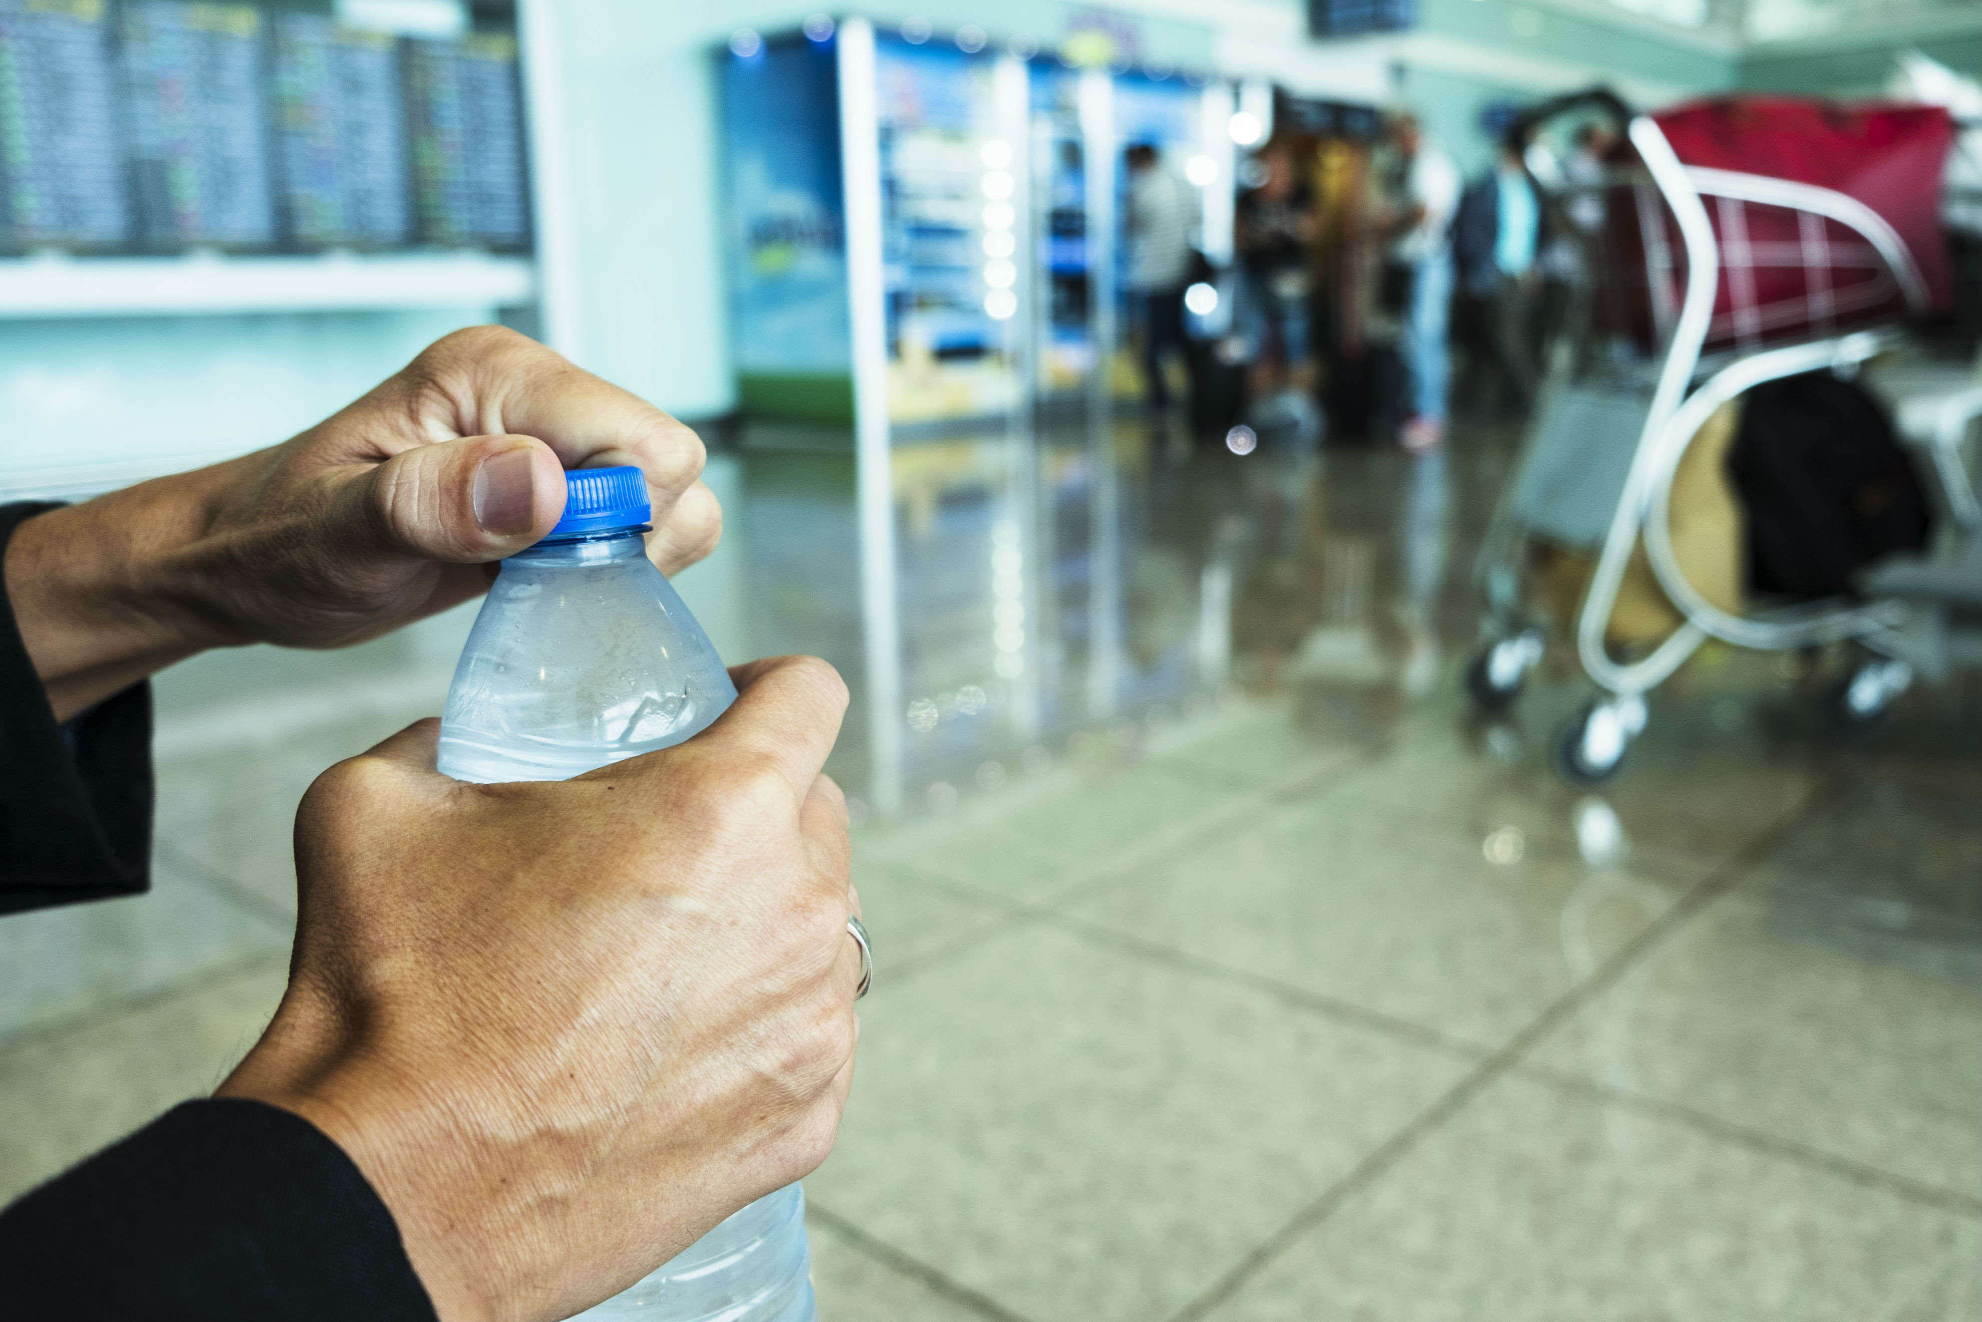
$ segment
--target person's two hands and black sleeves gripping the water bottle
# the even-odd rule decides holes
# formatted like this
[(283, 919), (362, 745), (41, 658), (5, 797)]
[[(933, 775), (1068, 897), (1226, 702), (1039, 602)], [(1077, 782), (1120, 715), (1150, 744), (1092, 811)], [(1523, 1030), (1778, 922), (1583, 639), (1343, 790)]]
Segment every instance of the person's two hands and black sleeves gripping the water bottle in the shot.
[[(0, 912), (143, 892), (147, 676), (331, 648), (482, 593), (563, 468), (648, 476), (664, 571), (721, 527), (692, 430), (511, 331), (442, 339), (256, 454), (0, 507)], [(297, 811), (274, 1021), (186, 1102), (0, 1211), (6, 1316), (565, 1318), (826, 1156), (860, 955), (846, 704), (755, 662), (702, 735), (468, 785), (420, 721)]]

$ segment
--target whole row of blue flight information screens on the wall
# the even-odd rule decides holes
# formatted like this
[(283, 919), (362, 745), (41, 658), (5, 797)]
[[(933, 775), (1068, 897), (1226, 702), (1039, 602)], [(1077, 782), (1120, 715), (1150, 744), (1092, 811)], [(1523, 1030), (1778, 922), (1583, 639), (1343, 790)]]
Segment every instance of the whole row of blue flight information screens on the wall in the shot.
[(410, 244), (529, 248), (513, 36), (0, 0), (0, 252)]

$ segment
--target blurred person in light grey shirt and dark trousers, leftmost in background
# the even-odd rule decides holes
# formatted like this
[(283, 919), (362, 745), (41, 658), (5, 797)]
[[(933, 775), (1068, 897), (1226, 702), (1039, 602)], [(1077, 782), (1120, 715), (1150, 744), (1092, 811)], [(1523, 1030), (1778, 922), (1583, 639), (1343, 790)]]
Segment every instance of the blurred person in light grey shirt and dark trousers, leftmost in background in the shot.
[(1165, 353), (1189, 355), (1183, 333), (1183, 289), (1191, 283), (1197, 250), (1191, 230), (1199, 220), (1197, 188), (1163, 166), (1150, 143), (1136, 143), (1122, 161), (1128, 166), (1128, 291), (1142, 341), (1142, 375), (1150, 420), (1169, 424), (1169, 379)]

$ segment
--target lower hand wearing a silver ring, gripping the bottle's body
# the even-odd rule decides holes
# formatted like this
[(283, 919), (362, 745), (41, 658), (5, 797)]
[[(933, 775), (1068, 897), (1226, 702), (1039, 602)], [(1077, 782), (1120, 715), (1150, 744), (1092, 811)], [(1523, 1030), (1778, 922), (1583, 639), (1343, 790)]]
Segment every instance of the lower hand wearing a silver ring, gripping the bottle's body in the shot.
[(450, 781), (422, 721), (303, 799), (289, 991), (220, 1094), (351, 1154), (444, 1322), (565, 1318), (832, 1148), (846, 688), (735, 680), (702, 735), (573, 781)]

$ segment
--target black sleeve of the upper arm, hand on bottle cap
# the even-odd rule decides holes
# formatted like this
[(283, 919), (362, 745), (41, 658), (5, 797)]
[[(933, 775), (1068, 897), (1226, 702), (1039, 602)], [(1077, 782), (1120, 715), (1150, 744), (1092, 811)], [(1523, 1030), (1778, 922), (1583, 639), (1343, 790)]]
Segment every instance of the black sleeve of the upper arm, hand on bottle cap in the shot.
[[(0, 559), (24, 519), (54, 507), (0, 505)], [(0, 575), (0, 914), (149, 882), (151, 686), (57, 725)]]

